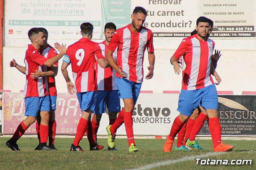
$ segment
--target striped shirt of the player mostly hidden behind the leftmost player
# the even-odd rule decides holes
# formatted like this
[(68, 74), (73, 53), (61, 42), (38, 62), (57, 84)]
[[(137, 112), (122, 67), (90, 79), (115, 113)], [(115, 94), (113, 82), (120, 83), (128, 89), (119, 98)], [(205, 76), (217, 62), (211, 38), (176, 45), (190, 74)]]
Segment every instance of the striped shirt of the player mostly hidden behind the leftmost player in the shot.
[[(48, 44), (48, 46), (45, 49), (41, 49), (40, 54), (44, 55), (47, 59), (52, 58), (56, 55), (58, 55), (57, 51)], [(54, 65), (58, 65), (58, 62)], [(43, 71), (49, 71), (51, 70), (51, 67), (47, 67), (43, 65)], [(50, 96), (57, 96), (57, 89), (55, 85), (55, 77), (44, 77), (45, 82), (47, 82), (46, 86), (48, 87), (48, 93)]]

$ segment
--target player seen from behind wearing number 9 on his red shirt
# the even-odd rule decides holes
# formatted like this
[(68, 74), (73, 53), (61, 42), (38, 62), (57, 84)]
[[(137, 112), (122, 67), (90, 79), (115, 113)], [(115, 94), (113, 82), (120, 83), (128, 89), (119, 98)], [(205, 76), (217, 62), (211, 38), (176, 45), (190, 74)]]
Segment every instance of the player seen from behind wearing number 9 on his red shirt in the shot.
[[(96, 144), (92, 136), (92, 123), (90, 120), (92, 110), (94, 110), (97, 84), (95, 78), (95, 62), (96, 59), (100, 67), (105, 68), (108, 62), (104, 59), (98, 43), (92, 42), (93, 26), (89, 22), (82, 23), (81, 38), (78, 42), (70, 45), (66, 51), (62, 63), (62, 73), (67, 82), (68, 92), (74, 93), (80, 103), (82, 109), (82, 117), (77, 126), (76, 137), (71, 145), (71, 151), (82, 151), (79, 146), (80, 140), (88, 130), (87, 137), (90, 143), (90, 150), (101, 150), (104, 146)], [(67, 67), (71, 64), (74, 77), (74, 84), (68, 77)]]

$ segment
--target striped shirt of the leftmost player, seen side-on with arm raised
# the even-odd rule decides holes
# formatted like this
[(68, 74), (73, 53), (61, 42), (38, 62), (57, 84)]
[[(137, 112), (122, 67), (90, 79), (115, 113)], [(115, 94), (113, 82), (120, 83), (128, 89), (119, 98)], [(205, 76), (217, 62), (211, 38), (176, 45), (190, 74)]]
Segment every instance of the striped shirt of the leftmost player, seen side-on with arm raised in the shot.
[(42, 71), (42, 65), (46, 62), (46, 58), (39, 53), (39, 51), (33, 46), (28, 45), (24, 63), (26, 65), (26, 84), (24, 87), (25, 97), (43, 97), (47, 96), (48, 91), (45, 85), (45, 80), (42, 77), (38, 79), (32, 79), (31, 73), (35, 70)]

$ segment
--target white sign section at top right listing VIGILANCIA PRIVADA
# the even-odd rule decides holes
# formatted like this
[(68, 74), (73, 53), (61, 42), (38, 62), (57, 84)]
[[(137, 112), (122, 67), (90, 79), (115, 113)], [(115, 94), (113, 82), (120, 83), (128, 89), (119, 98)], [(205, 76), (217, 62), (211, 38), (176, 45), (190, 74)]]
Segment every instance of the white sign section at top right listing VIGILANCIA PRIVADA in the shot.
[(255, 0), (200, 0), (199, 13), (214, 22), (212, 37), (254, 37)]

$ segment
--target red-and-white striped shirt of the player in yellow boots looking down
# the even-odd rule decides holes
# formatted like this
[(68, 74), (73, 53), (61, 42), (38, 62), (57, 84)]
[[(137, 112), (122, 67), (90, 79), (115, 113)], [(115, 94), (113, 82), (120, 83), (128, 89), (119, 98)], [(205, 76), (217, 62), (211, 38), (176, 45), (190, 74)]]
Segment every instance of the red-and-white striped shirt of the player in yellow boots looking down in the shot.
[[(126, 79), (142, 83), (145, 49), (147, 47), (148, 52), (154, 52), (152, 31), (142, 27), (140, 32), (134, 33), (130, 30), (130, 25), (116, 30), (108, 49), (114, 51), (118, 47), (117, 65), (128, 76)], [(118, 73), (116, 77), (121, 78)]]

